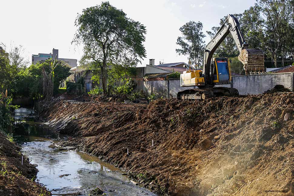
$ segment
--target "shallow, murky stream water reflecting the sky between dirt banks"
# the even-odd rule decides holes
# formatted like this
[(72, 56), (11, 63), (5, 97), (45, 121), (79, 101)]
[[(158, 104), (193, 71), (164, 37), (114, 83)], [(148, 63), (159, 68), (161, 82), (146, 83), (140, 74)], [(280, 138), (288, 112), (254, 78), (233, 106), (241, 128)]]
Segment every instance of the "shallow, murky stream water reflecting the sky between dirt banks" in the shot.
[(72, 150), (59, 150), (56, 143), (65, 139), (52, 127), (38, 121), (38, 114), (29, 108), (15, 110), (15, 141), (22, 144), (39, 170), (36, 179), (52, 195), (80, 193), (89, 195), (97, 186), (106, 195), (156, 195), (129, 181), (124, 172), (99, 158)]

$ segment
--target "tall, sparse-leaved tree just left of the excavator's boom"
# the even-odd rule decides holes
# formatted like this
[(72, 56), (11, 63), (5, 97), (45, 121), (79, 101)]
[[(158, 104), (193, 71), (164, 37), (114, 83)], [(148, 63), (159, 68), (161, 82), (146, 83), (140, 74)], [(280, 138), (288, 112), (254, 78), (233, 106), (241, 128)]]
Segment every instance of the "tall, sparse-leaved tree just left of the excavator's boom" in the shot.
[(179, 55), (188, 55), (188, 60), (192, 64), (201, 67), (203, 61), (204, 41), (205, 37), (202, 32), (203, 25), (201, 22), (190, 21), (180, 28), (182, 37), (178, 37), (176, 44), (181, 48), (175, 51)]

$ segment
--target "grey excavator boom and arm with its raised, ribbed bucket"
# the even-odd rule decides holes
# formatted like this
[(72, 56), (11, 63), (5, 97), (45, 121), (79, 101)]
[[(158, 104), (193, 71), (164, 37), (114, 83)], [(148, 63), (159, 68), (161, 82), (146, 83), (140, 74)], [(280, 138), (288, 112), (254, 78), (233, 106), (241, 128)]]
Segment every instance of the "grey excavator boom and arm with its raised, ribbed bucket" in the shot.
[[(248, 44), (243, 38), (237, 18), (229, 14), (226, 21), (222, 24), (218, 32), (216, 32), (215, 36), (205, 47), (202, 74), (205, 78), (206, 85), (212, 84), (212, 56), (229, 33), (231, 33), (238, 50), (240, 51), (238, 59), (244, 65), (246, 74), (247, 71), (262, 71), (264, 68), (263, 52), (258, 49), (248, 49)], [(247, 65), (249, 65), (249, 69)]]

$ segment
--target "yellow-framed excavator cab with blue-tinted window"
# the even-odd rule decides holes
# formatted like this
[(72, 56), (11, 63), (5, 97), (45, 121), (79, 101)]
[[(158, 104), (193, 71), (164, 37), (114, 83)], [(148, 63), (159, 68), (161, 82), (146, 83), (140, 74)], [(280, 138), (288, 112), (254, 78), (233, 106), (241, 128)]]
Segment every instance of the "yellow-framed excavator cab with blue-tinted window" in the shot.
[(231, 83), (230, 61), (227, 58), (215, 58), (213, 67), (213, 80), (215, 85)]

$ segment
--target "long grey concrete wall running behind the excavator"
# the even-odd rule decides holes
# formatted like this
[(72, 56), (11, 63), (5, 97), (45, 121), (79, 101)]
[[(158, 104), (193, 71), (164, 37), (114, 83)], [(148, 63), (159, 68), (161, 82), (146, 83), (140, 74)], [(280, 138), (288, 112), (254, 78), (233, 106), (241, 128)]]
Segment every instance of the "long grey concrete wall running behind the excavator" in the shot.
[[(294, 73), (277, 73), (263, 75), (242, 75), (233, 76), (231, 85), (218, 85), (223, 87), (236, 88), (240, 95), (261, 94), (276, 85), (283, 85), (293, 91)], [(155, 94), (156, 98), (167, 97), (176, 98), (179, 91), (197, 87), (180, 87), (179, 79), (169, 79), (167, 81), (144, 81), (144, 91)]]

